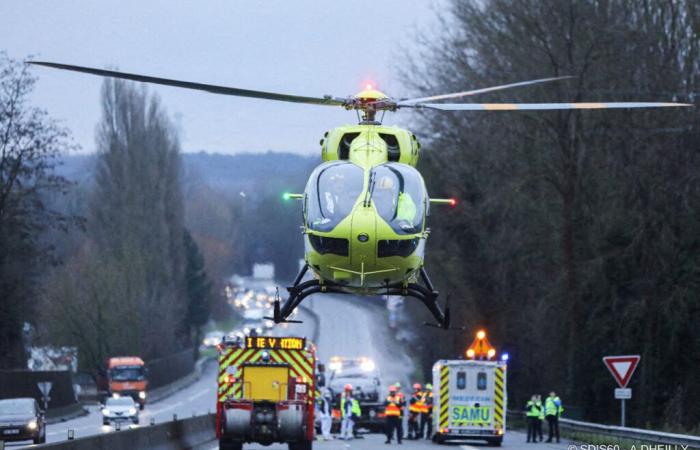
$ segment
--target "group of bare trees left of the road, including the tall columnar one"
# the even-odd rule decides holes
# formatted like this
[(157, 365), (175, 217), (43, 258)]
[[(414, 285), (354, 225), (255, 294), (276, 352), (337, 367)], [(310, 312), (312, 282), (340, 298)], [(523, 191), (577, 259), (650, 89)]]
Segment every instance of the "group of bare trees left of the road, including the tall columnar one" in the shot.
[(196, 348), (212, 282), (185, 226), (175, 126), (145, 88), (106, 80), (86, 183), (54, 170), (67, 130), (27, 103), (27, 67), (3, 55), (3, 367), (28, 345), (76, 346), (81, 368), (115, 354)]

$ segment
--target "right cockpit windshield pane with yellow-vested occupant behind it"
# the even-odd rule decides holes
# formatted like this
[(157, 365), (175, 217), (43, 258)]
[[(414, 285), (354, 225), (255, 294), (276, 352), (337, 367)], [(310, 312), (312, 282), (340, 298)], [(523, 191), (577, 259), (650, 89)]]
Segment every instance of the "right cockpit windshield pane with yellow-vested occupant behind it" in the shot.
[(372, 172), (371, 199), (379, 215), (399, 234), (420, 233), (427, 195), (418, 171), (388, 163)]

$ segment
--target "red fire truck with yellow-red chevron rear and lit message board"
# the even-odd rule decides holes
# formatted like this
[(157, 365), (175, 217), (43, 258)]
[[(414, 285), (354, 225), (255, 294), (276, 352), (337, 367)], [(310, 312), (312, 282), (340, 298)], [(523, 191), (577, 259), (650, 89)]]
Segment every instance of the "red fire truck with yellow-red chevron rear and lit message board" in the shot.
[(248, 336), (219, 351), (216, 436), (220, 450), (243, 443), (287, 443), (311, 450), (314, 438), (315, 348), (305, 338)]

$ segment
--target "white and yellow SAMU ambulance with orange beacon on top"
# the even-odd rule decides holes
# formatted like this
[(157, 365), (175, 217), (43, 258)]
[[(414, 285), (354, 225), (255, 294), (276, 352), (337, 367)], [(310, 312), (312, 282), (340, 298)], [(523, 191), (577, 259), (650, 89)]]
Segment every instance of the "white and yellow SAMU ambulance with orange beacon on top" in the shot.
[(477, 439), (500, 446), (506, 430), (508, 354), (496, 359), (496, 349), (479, 330), (465, 356), (433, 365), (432, 439), (438, 444)]

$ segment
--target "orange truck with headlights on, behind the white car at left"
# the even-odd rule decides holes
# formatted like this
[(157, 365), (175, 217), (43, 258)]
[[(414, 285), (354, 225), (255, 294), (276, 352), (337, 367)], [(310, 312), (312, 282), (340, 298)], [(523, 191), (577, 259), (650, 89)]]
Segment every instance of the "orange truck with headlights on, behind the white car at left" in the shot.
[(138, 356), (108, 358), (105, 370), (97, 377), (101, 397), (128, 396), (143, 409), (146, 405), (146, 365)]

